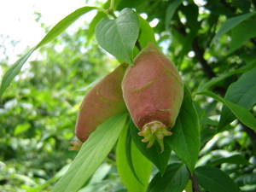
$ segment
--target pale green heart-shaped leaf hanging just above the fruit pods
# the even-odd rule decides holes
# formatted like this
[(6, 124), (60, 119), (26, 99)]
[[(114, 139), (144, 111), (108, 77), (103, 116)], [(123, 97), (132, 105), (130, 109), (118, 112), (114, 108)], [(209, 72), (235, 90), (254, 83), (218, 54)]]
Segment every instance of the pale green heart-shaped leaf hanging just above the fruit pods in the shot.
[(137, 14), (123, 9), (116, 20), (102, 19), (96, 25), (96, 39), (103, 49), (119, 61), (133, 63), (133, 48), (138, 38)]

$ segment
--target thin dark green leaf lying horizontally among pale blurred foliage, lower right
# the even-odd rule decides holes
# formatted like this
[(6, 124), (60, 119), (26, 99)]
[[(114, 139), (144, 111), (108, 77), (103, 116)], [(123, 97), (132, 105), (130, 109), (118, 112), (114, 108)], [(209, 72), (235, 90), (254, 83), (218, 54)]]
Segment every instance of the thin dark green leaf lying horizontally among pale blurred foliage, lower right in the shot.
[(248, 165), (248, 161), (241, 156), (241, 154), (232, 154), (229, 157), (219, 157), (216, 159), (210, 160), (210, 162), (207, 163), (209, 166), (218, 166), (223, 163), (230, 163), (230, 164), (237, 164), (237, 165)]

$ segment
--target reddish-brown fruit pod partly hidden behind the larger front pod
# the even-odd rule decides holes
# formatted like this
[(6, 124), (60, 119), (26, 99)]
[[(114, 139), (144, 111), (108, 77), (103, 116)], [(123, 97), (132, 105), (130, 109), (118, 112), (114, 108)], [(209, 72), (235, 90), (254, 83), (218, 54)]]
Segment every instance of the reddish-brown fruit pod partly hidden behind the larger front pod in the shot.
[(126, 111), (121, 89), (125, 69), (126, 65), (121, 64), (84, 96), (75, 128), (76, 136), (81, 142), (84, 142), (98, 125)]

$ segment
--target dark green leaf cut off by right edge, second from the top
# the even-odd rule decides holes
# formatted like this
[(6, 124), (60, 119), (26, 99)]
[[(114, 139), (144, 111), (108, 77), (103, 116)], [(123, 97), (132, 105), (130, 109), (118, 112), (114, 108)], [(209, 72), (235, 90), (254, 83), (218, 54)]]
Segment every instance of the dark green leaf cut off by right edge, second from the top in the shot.
[(250, 38), (256, 36), (256, 20), (244, 20), (231, 30), (230, 50), (228, 54), (240, 48)]

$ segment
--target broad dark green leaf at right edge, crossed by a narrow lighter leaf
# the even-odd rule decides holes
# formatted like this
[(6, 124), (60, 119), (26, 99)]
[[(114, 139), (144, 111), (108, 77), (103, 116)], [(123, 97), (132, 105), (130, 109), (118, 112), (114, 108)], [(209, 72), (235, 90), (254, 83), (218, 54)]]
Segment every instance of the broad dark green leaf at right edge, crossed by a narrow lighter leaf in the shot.
[[(252, 108), (256, 103), (255, 77), (256, 67), (247, 73), (242, 74), (236, 82), (230, 84), (224, 98), (230, 102), (235, 102), (244, 108)], [(219, 119), (218, 129), (228, 125), (235, 118), (236, 117), (230, 109), (224, 106)]]

